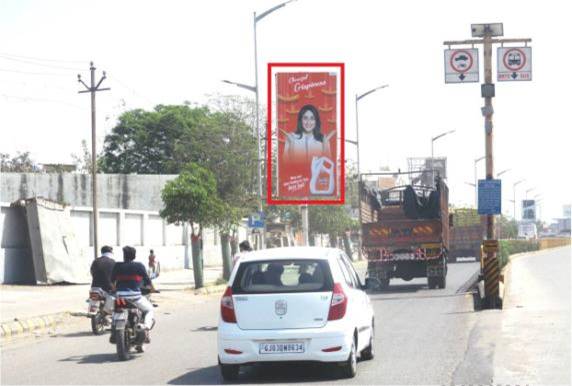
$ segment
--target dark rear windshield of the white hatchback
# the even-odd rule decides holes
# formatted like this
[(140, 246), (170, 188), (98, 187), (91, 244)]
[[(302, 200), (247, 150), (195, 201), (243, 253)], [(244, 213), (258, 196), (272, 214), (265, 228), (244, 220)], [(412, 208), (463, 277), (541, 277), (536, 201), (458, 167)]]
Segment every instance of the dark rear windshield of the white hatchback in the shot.
[(332, 291), (332, 275), (325, 260), (269, 260), (242, 262), (232, 285), (234, 294)]

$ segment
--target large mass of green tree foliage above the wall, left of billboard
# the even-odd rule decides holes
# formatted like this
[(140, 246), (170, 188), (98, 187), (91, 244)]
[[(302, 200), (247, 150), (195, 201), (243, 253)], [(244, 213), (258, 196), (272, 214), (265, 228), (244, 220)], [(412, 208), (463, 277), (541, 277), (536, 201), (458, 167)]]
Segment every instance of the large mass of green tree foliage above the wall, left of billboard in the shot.
[(209, 208), (213, 225), (230, 232), (258, 202), (257, 144), (246, 102), (218, 97), (213, 109), (185, 103), (128, 111), (105, 139), (101, 170), (177, 174), (189, 163), (200, 165), (216, 180), (220, 201)]

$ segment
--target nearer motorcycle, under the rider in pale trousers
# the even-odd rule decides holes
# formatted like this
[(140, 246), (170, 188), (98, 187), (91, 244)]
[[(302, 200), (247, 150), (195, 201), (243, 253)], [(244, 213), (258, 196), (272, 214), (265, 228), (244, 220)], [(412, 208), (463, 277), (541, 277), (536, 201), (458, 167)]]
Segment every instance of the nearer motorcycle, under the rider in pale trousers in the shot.
[[(141, 289), (143, 296), (150, 299), (150, 290)], [(159, 291), (156, 291), (159, 292)], [(153, 304), (153, 307), (157, 307)], [(141, 328), (143, 323), (143, 312), (131, 302), (128, 298), (117, 297), (115, 299), (115, 308), (112, 315), (111, 323), (111, 343), (115, 343), (117, 347), (117, 356), (119, 360), (125, 361), (131, 358), (131, 348), (134, 347), (138, 353), (144, 351), (146, 331)], [(155, 326), (153, 325), (151, 329)]]

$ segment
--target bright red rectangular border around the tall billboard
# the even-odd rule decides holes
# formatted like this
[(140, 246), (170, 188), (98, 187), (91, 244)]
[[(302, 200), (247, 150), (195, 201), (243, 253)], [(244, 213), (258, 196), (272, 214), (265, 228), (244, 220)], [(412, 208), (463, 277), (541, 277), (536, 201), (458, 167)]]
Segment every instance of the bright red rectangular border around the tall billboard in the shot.
[[(281, 67), (336, 67), (340, 69), (340, 198), (338, 200), (275, 200), (272, 198), (272, 69)], [(268, 63), (267, 72), (268, 95), (267, 95), (267, 131), (266, 148), (266, 202), (268, 205), (343, 205), (345, 203), (346, 179), (345, 179), (345, 64), (336, 62), (324, 63)]]

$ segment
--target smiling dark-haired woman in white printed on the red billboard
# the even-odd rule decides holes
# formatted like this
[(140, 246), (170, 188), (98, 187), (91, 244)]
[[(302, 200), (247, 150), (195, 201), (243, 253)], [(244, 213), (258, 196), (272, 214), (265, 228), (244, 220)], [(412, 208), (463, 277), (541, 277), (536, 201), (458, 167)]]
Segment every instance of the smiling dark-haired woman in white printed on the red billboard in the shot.
[(284, 144), (284, 161), (306, 163), (313, 157), (331, 158), (330, 139), (335, 130), (322, 134), (322, 125), (318, 109), (313, 105), (304, 105), (298, 112), (296, 131), (288, 133), (281, 130), (286, 137)]

